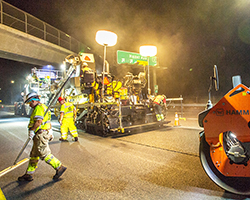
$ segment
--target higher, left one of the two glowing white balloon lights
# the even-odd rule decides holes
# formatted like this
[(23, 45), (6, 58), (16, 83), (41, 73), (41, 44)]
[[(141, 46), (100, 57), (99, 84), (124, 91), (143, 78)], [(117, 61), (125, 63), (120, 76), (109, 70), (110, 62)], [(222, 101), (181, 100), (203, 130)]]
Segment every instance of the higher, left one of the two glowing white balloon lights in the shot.
[(116, 45), (117, 35), (111, 31), (100, 30), (96, 32), (95, 40), (100, 45), (112, 47)]

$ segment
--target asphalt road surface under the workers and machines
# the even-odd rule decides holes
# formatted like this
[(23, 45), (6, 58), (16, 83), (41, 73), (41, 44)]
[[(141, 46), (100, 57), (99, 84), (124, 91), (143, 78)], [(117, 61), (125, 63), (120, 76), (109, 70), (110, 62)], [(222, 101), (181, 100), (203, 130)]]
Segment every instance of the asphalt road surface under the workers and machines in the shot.
[[(79, 141), (60, 142), (53, 121), (52, 153), (67, 167), (53, 181), (55, 170), (40, 161), (34, 180), (17, 181), (28, 163), (0, 177), (7, 200), (16, 199), (243, 199), (215, 185), (199, 160), (197, 113), (162, 129), (124, 137), (102, 138), (79, 131)], [(11, 166), (27, 140), (26, 117), (0, 112), (0, 171)], [(21, 158), (29, 157), (32, 142)], [(1, 192), (1, 191), (0, 191)], [(0, 196), (1, 197), (1, 196)]]

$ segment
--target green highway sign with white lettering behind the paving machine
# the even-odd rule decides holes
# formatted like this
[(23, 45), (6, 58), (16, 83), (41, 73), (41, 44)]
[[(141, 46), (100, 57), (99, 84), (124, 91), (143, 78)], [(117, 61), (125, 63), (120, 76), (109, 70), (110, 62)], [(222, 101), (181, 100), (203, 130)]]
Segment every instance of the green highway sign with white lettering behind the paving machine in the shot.
[[(128, 52), (128, 51), (120, 51), (117, 50), (117, 63), (118, 64), (138, 64), (138, 65), (148, 65), (148, 58), (146, 56), (141, 56), (139, 53)], [(149, 57), (149, 65), (156, 66), (157, 65), (157, 57), (151, 56)]]

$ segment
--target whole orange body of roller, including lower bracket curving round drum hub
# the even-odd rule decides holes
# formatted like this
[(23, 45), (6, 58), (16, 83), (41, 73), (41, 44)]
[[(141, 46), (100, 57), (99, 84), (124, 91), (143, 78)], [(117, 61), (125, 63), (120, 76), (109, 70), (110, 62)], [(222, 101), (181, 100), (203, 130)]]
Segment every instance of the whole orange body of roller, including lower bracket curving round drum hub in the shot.
[(250, 90), (243, 84), (229, 91), (203, 119), (205, 138), (214, 166), (225, 176), (250, 177), (250, 165), (230, 164), (223, 149), (223, 134), (231, 131), (250, 142)]

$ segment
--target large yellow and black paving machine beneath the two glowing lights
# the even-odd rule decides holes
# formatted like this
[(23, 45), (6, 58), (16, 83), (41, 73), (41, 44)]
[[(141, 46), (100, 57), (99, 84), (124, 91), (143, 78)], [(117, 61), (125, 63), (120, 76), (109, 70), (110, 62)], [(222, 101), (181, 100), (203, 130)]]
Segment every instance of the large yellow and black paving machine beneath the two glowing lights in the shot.
[[(128, 73), (123, 80), (117, 80), (106, 71), (91, 77), (94, 80), (91, 78), (89, 84), (74, 77), (61, 94), (77, 108), (77, 128), (105, 137), (128, 133), (133, 129), (159, 128), (169, 123), (166, 120), (158, 122), (152, 100), (143, 98), (142, 89), (146, 85), (144, 72), (139, 75)], [(84, 89), (72, 92), (82, 87), (80, 83), (89, 86), (88, 91), (91, 92), (84, 93)], [(60, 105), (56, 104), (54, 108), (58, 116)]]

